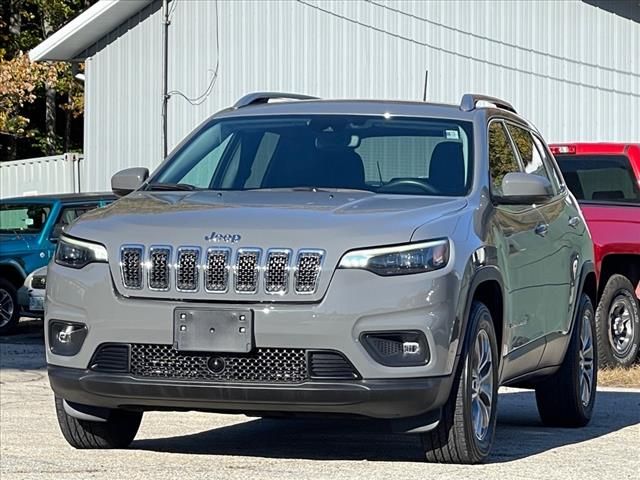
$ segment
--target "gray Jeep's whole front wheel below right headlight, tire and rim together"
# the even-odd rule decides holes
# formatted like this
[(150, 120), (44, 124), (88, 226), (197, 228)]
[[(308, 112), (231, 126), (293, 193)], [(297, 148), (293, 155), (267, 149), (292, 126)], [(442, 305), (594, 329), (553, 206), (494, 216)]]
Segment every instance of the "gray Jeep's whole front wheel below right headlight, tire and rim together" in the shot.
[(491, 451), (498, 405), (498, 346), (491, 312), (471, 307), (473, 329), (438, 426), (422, 434), (429, 462), (480, 463)]

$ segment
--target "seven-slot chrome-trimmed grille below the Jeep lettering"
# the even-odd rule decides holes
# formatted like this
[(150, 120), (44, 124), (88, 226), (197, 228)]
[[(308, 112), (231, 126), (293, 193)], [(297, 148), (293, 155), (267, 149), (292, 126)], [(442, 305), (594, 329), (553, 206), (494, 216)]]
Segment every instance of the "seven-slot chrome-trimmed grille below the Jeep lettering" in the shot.
[[(324, 251), (167, 245), (124, 245), (120, 275), (125, 289), (210, 294), (308, 295), (318, 289)], [(146, 284), (146, 285), (145, 285)]]

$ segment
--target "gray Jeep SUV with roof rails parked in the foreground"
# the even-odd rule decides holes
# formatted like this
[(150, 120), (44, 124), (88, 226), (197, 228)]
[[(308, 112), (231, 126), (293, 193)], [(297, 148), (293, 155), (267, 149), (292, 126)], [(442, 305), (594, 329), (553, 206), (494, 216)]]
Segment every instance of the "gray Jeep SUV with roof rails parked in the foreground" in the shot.
[(474, 463), (500, 385), (535, 388), (547, 424), (591, 417), (589, 232), (502, 100), (250, 94), (112, 187), (48, 274), (74, 447), (127, 446), (156, 409), (350, 414)]

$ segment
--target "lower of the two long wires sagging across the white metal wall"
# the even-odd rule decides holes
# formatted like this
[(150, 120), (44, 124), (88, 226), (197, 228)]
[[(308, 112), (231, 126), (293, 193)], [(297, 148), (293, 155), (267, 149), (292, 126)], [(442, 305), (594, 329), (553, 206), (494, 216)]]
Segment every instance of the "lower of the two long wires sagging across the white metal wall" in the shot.
[(466, 55), (464, 53), (456, 52), (454, 50), (450, 50), (450, 49), (443, 48), (443, 47), (438, 47), (436, 45), (431, 45), (429, 43), (422, 42), (422, 41), (416, 40), (414, 38), (406, 37), (404, 35), (400, 35), (399, 33), (394, 33), (394, 32), (390, 32), (388, 30), (384, 30), (384, 29), (376, 27), (374, 25), (370, 25), (368, 23), (364, 23), (364, 22), (362, 22), (360, 20), (356, 20), (354, 18), (349, 18), (349, 17), (346, 17), (346, 16), (341, 15), (339, 13), (333, 12), (331, 10), (327, 10), (325, 8), (319, 7), (318, 5), (311, 4), (309, 2), (306, 2), (305, 0), (296, 0), (296, 1), (298, 3), (301, 3), (302, 5), (305, 5), (305, 6), (309, 7), (309, 8), (312, 8), (314, 10), (318, 10), (320, 12), (326, 13), (328, 15), (331, 15), (333, 17), (339, 18), (341, 20), (345, 20), (345, 21), (347, 21), (349, 23), (353, 23), (355, 25), (359, 25), (361, 27), (368, 28), (370, 30), (374, 30), (374, 31), (382, 33), (384, 35), (388, 35), (390, 37), (394, 37), (394, 38), (398, 38), (400, 40), (411, 42), (411, 43), (413, 43), (415, 45), (419, 45), (421, 47), (427, 47), (427, 48), (430, 48), (430, 49), (438, 51), (438, 52), (446, 53), (446, 54), (449, 54), (449, 55), (454, 55), (454, 56), (457, 56), (457, 57), (460, 57), (460, 58), (464, 58), (466, 60), (471, 60), (473, 62), (477, 62), (477, 63), (481, 63), (481, 64), (485, 64), (485, 65), (491, 65), (493, 67), (503, 68), (505, 70), (510, 70), (510, 71), (513, 71), (513, 72), (524, 73), (524, 74), (527, 74), (527, 75), (532, 75), (532, 76), (539, 77), (539, 78), (544, 78), (544, 79), (547, 79), (547, 80), (553, 80), (553, 81), (556, 81), (556, 82), (567, 83), (569, 85), (575, 85), (577, 87), (591, 88), (591, 89), (600, 90), (600, 91), (603, 91), (603, 92), (617, 93), (617, 94), (620, 94), (620, 95), (629, 95), (629, 96), (632, 96), (632, 97), (640, 98), (640, 93), (636, 93), (636, 92), (630, 92), (630, 91), (626, 91), (626, 90), (618, 90), (618, 89), (615, 89), (615, 88), (600, 87), (598, 85), (593, 85), (593, 84), (583, 83), (583, 82), (577, 82), (575, 80), (568, 80), (568, 79), (565, 79), (565, 78), (557, 78), (557, 77), (553, 77), (551, 75), (547, 75), (545, 73), (538, 73), (538, 72), (533, 72), (531, 70), (525, 70), (523, 68), (512, 67), (512, 66), (509, 66), (509, 65), (503, 65), (501, 63), (493, 62), (491, 60), (483, 60), (481, 58), (476, 58), (476, 57), (473, 57), (471, 55)]

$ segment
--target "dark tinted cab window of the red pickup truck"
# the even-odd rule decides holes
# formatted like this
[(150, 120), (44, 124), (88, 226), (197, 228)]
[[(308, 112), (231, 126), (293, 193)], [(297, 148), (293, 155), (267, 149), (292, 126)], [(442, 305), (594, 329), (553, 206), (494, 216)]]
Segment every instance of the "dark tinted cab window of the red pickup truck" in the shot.
[(625, 155), (556, 155), (578, 200), (640, 203), (640, 188)]

